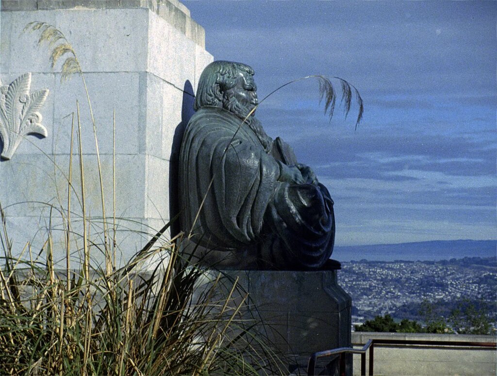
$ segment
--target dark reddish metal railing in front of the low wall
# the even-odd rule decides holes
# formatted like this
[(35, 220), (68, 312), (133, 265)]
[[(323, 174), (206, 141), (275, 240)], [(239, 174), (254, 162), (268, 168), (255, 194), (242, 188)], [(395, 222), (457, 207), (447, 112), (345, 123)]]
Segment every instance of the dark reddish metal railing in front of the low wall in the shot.
[(369, 349), (369, 375), (373, 375), (374, 371), (374, 347), (390, 345), (390, 346), (430, 346), (430, 347), (444, 347), (444, 348), (461, 348), (461, 347), (483, 347), (497, 350), (496, 342), (470, 342), (470, 341), (421, 341), (421, 340), (392, 340), (392, 339), (370, 339), (361, 349), (354, 349), (353, 347), (340, 347), (333, 350), (320, 351), (314, 353), (309, 358), (307, 365), (307, 375), (316, 375), (316, 362), (320, 358), (328, 358), (332, 356), (339, 356), (339, 375), (345, 375), (345, 356), (347, 354), (360, 354), (361, 355), (361, 375), (366, 375), (366, 352)]

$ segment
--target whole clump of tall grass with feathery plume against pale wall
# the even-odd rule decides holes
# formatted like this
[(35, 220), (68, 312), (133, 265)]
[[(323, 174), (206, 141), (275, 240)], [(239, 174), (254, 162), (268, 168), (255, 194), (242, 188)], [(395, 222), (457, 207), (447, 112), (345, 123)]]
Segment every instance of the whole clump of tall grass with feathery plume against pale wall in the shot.
[[(69, 56), (62, 64), (62, 77), (81, 76), (91, 111), (80, 62), (62, 32), (42, 22), (26, 28), (39, 31), (39, 43), (53, 48), (53, 66)], [(280, 363), (263, 337), (250, 331), (255, 321), (242, 314), (248, 295), (238, 281), (202, 270), (180, 254), (181, 234), (164, 239), (169, 223), (124, 267), (117, 267), (116, 198), (114, 195), (113, 215), (108, 219), (92, 111), (102, 216), (94, 218), (86, 212), (80, 115), (76, 103), (69, 173), (64, 175), (67, 204), (46, 204), (50, 220), (59, 216), (63, 222), (65, 268), (57, 269), (54, 262), (55, 229), (51, 224), (41, 252), (33, 251), (29, 242), (22, 250), (14, 249), (0, 205), (0, 374), (281, 374)], [(77, 143), (77, 152), (73, 143)], [(115, 161), (115, 146), (113, 150)], [(54, 168), (63, 171), (50, 160)], [(74, 174), (79, 175), (79, 187), (74, 184)], [(115, 192), (115, 163), (112, 176)], [(76, 211), (71, 201), (74, 193), (80, 203)], [(90, 234), (93, 222), (102, 220), (103, 249)], [(112, 221), (112, 226), (107, 221)], [(72, 248), (74, 239), (81, 248)], [(70, 261), (74, 252), (81, 254), (76, 267)], [(103, 268), (92, 264), (95, 252), (104, 253)], [(164, 256), (163, 263), (143, 272), (141, 266), (158, 255)]]

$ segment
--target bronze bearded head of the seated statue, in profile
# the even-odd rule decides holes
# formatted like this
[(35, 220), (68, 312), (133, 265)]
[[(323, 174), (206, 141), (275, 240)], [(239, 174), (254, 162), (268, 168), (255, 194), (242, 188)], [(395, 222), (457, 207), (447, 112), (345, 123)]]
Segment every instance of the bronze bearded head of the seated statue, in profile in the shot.
[(241, 63), (215, 61), (209, 64), (200, 76), (193, 108), (222, 106), (245, 118), (258, 103), (253, 74), (251, 67)]

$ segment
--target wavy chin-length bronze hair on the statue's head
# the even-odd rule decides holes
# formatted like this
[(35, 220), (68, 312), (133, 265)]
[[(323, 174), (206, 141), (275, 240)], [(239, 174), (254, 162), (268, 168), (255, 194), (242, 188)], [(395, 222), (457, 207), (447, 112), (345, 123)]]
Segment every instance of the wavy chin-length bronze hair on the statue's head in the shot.
[(223, 60), (210, 63), (200, 75), (193, 109), (197, 111), (203, 106), (219, 106), (223, 93), (236, 86), (240, 72), (250, 76), (254, 74), (253, 69), (246, 64)]

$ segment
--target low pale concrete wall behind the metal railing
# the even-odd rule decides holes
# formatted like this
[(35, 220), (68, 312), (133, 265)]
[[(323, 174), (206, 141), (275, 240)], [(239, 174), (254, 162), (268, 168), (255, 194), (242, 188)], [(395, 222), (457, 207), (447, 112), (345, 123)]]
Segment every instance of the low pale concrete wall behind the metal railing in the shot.
[[(352, 332), (354, 347), (364, 345), (369, 339), (496, 342), (495, 336)], [(483, 348), (386, 345), (374, 348), (375, 375), (496, 375), (496, 361), (496, 351)], [(360, 375), (360, 362), (360, 355), (354, 355), (354, 375)], [(366, 373), (368, 370), (369, 353)]]

